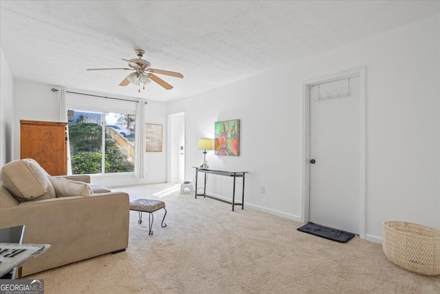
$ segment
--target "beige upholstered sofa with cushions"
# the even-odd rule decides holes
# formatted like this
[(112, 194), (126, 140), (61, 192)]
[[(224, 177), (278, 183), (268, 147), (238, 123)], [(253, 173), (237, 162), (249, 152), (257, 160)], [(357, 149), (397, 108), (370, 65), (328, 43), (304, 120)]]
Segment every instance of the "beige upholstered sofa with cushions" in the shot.
[[(19, 168), (11, 169), (10, 165)], [(1, 170), (0, 228), (24, 224), (23, 244), (51, 245), (45, 253), (23, 265), (23, 276), (126, 249), (129, 240), (127, 193), (86, 185), (90, 182), (89, 176), (50, 177), (36, 165), (34, 160), (15, 160)], [(83, 185), (81, 187), (87, 187), (89, 192), (85, 189), (86, 192), (78, 193), (85, 196), (59, 197), (58, 193), (68, 194), (67, 189), (57, 189), (58, 184), (50, 185), (45, 180), (49, 183), (63, 180), (62, 185), (76, 188)], [(97, 188), (103, 193), (96, 193)]]

